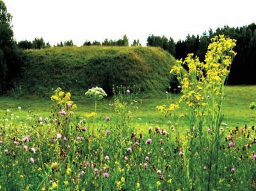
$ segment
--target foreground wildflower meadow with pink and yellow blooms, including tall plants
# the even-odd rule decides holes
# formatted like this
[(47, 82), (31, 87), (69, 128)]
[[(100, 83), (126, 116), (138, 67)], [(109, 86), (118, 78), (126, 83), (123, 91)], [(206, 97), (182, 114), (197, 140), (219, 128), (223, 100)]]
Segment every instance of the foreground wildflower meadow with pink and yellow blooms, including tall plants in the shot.
[[(255, 190), (256, 128), (223, 121), (235, 46), (236, 40), (215, 36), (204, 62), (188, 54), (170, 68), (180, 85), (150, 109), (159, 124), (136, 128), (143, 98), (124, 86), (114, 87), (111, 100), (102, 88), (84, 90), (93, 111), (83, 115), (61, 88), (45, 116), (29, 110), (20, 119), (22, 105), (6, 109), (0, 190)], [(101, 118), (99, 102), (109, 107)]]

